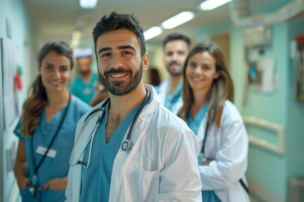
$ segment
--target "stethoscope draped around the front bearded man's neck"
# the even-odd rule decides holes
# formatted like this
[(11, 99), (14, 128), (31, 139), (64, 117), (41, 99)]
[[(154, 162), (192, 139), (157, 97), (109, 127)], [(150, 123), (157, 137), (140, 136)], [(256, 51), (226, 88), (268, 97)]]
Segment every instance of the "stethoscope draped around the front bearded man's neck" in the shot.
[[(133, 131), (133, 128), (134, 128), (136, 119), (138, 118), (138, 115), (140, 114), (140, 112), (142, 111), (142, 109), (144, 108), (144, 106), (146, 105), (146, 103), (148, 102), (148, 99), (149, 99), (149, 97), (150, 97), (150, 91), (146, 89), (146, 92), (147, 92), (146, 97), (145, 97), (144, 101), (141, 103), (141, 105), (140, 105), (139, 109), (137, 110), (137, 112), (136, 112), (136, 114), (135, 114), (135, 117), (134, 117), (134, 119), (133, 119), (133, 121), (132, 121), (131, 127), (130, 127), (129, 132), (128, 132), (127, 140), (124, 141), (124, 142), (121, 144), (121, 149), (122, 149), (123, 151), (127, 152), (127, 153), (130, 153), (130, 152), (132, 151), (132, 148), (133, 148), (133, 145), (134, 145), (133, 142), (132, 142), (130, 139), (131, 139), (131, 134), (132, 134), (132, 131)], [(101, 105), (100, 108), (91, 111), (91, 112), (87, 115), (87, 117), (85, 118), (85, 120), (84, 120), (84, 125), (83, 125), (82, 128), (80, 129), (80, 134), (79, 134), (79, 136), (78, 136), (78, 138), (77, 138), (77, 140), (76, 140), (76, 142), (75, 142), (75, 144), (74, 144), (74, 147), (73, 147), (73, 149), (72, 149), (72, 153), (71, 153), (70, 158), (69, 158), (69, 165), (70, 165), (70, 166), (75, 166), (75, 165), (77, 165), (77, 164), (80, 164), (80, 165), (82, 165), (82, 166), (84, 167), (84, 169), (87, 169), (87, 168), (89, 167), (89, 165), (90, 165), (90, 159), (91, 159), (91, 151), (92, 151), (93, 140), (94, 140), (96, 131), (97, 131), (97, 129), (98, 129), (99, 125), (101, 124), (101, 121), (102, 121), (102, 119), (103, 119), (103, 117), (104, 117), (104, 114), (105, 114), (105, 109), (104, 109), (104, 107), (106, 106), (106, 104), (107, 104), (109, 101), (110, 101), (110, 98), (108, 97), (108, 98), (104, 101), (104, 103)], [(88, 122), (93, 118), (91, 115), (93, 115), (93, 114), (95, 114), (95, 113), (97, 113), (97, 112), (100, 112), (100, 111), (101, 111), (101, 116), (98, 118), (98, 120), (97, 120), (97, 122), (96, 122), (96, 125), (95, 125), (94, 129), (92, 130), (92, 132), (91, 132), (91, 134), (90, 134), (88, 140), (86, 141), (86, 144), (85, 144), (85, 146), (84, 146), (83, 151), (82, 151), (81, 154), (78, 156), (76, 162), (72, 163), (72, 162), (71, 162), (71, 159), (74, 157), (74, 154), (75, 154), (74, 149), (75, 149), (75, 147), (76, 147), (76, 145), (77, 145), (77, 142), (78, 142), (80, 136), (82, 135), (82, 132), (83, 132), (83, 130), (84, 130), (84, 127), (85, 127), (85, 126), (88, 124)], [(80, 158), (81, 158), (81, 156), (84, 154), (84, 150), (85, 150), (85, 148), (87, 147), (87, 145), (88, 145), (88, 143), (89, 143), (90, 141), (91, 141), (91, 144), (90, 144), (90, 151), (89, 151), (89, 159), (88, 159), (87, 165), (85, 165), (84, 161), (81, 161)]]

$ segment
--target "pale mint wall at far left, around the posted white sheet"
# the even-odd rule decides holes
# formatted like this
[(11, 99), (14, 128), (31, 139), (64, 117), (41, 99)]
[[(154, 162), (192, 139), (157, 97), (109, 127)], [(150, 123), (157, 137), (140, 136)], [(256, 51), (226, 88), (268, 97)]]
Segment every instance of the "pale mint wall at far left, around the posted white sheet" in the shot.
[[(6, 26), (5, 19), (6, 17), (11, 22), (11, 33), (12, 38), (9, 39), (6, 37)], [(19, 65), (22, 67), (22, 79), (23, 79), (23, 91), (18, 93), (19, 104), (21, 106), (22, 101), (25, 99), (27, 87), (32, 81), (33, 72), (36, 72), (35, 66), (35, 52), (37, 47), (39, 33), (34, 24), (34, 19), (30, 16), (26, 6), (24, 5), (23, 0), (0, 0), (0, 38), (7, 39), (11, 44), (17, 47), (18, 49), (18, 59)], [(28, 41), (28, 46), (25, 46), (25, 39)], [(25, 53), (25, 51), (28, 51)], [(25, 58), (25, 56), (30, 58)], [(30, 61), (28, 65), (29, 69), (24, 68), (25, 61)], [(35, 74), (34, 74), (35, 75)], [(2, 83), (0, 84), (2, 88)], [(20, 107), (19, 106), (19, 107)], [(5, 107), (5, 106), (4, 106)], [(13, 126), (12, 126), (13, 127)], [(17, 137), (12, 133), (13, 128), (9, 128), (6, 131), (3, 131), (1, 128), (1, 133), (3, 134), (1, 138), (2, 145), (0, 146), (1, 159), (6, 162), (6, 149), (12, 145), (13, 142), (16, 142), (17, 147)], [(3, 196), (1, 196), (0, 201), (7, 202), (12, 191), (13, 185), (16, 183), (15, 175), (13, 171), (6, 170), (6, 163), (1, 164), (3, 173)]]

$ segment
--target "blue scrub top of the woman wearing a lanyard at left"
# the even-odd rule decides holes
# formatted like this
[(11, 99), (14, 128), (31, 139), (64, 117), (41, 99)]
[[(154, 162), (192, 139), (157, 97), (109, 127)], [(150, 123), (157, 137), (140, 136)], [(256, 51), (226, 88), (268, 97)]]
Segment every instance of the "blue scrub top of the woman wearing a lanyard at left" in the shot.
[[(56, 155), (54, 158), (46, 156), (36, 173), (37, 202), (64, 202), (66, 200), (65, 189), (59, 191), (54, 191), (51, 189), (38, 191), (38, 188), (49, 182), (51, 179), (64, 178), (68, 176), (69, 156), (74, 145), (76, 125), (79, 119), (84, 115), (84, 113), (86, 113), (91, 108), (92, 107), (88, 106), (86, 103), (84, 103), (77, 97), (70, 101), (70, 106), (67, 111), (66, 118), (63, 124), (61, 125), (61, 128), (58, 131), (58, 135), (51, 146), (51, 149), (56, 151)], [(39, 124), (37, 125), (33, 134), (33, 146), (32, 138), (24, 137), (18, 132), (21, 127), (19, 120), (19, 123), (17, 124), (14, 132), (20, 140), (25, 142), (25, 152), (29, 166), (30, 181), (32, 181), (34, 175), (34, 161), (35, 165), (37, 166), (43, 157), (43, 155), (37, 154), (37, 148), (38, 146), (45, 148), (49, 147), (66, 109), (67, 107), (58, 112), (50, 123), (47, 123), (45, 110), (44, 108), (42, 109)], [(22, 197), (22, 202), (34, 202), (34, 198), (29, 192), (28, 187), (20, 190), (20, 194)]]

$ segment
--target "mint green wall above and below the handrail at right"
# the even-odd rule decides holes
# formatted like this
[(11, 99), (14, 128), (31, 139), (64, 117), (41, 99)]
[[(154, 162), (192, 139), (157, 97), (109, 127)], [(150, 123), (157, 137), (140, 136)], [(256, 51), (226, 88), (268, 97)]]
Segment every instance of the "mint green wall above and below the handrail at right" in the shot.
[[(272, 26), (272, 44), (265, 48), (262, 58), (273, 57), (275, 60), (274, 74), (278, 75), (278, 87), (273, 93), (248, 90), (248, 102), (243, 107), (243, 114), (265, 119), (270, 122), (287, 125), (287, 70), (288, 70), (288, 25)], [(248, 133), (254, 135), (253, 130)], [(258, 134), (257, 134), (258, 135)], [(257, 136), (254, 135), (254, 136)], [(265, 131), (260, 136), (269, 136)], [(264, 138), (267, 139), (267, 138)], [(276, 143), (273, 141), (273, 143)], [(247, 176), (270, 191), (285, 199), (287, 196), (287, 157), (276, 155), (267, 150), (250, 146)]]

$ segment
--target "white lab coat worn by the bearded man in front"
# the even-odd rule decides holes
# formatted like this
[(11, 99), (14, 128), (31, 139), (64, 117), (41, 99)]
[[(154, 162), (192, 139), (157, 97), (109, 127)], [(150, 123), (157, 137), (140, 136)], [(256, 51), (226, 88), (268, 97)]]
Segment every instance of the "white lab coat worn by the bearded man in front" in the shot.
[[(196, 136), (184, 121), (160, 105), (160, 97), (151, 85), (145, 88), (151, 91), (151, 101), (135, 122), (131, 153), (120, 148), (115, 157), (109, 202), (202, 202)], [(88, 113), (77, 125), (75, 140)], [(95, 124), (96, 120), (90, 121), (84, 132), (85, 128), (91, 131)], [(83, 147), (75, 148), (80, 150)], [(72, 162), (77, 162), (77, 157)], [(66, 202), (79, 202), (81, 176), (81, 165), (70, 166)]]

